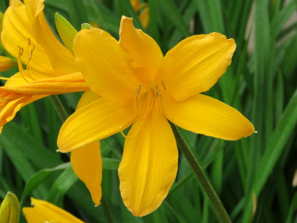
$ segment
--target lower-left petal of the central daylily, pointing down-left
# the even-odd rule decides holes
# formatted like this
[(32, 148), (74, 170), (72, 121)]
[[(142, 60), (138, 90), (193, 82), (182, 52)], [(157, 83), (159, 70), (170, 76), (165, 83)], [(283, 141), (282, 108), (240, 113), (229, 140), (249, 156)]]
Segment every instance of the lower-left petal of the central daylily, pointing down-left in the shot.
[(126, 129), (136, 119), (133, 103), (120, 105), (100, 98), (74, 112), (62, 125), (58, 148), (69, 152)]

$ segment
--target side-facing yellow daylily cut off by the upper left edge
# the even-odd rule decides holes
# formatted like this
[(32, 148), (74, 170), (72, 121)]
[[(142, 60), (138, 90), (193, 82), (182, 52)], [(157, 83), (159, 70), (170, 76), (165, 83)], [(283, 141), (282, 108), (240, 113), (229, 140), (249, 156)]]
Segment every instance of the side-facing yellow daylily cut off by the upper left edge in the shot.
[[(50, 94), (89, 90), (74, 56), (51, 32), (43, 14), (44, 0), (10, 0), (1, 40), (18, 60), (19, 72), (0, 87), (0, 132), (28, 103)], [(26, 69), (22, 63), (26, 64)]]

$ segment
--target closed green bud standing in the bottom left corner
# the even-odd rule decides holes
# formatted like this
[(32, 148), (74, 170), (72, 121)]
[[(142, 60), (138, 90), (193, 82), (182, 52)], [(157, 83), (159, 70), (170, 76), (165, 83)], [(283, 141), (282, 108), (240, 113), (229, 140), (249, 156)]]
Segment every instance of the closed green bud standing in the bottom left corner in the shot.
[(18, 223), (19, 221), (19, 201), (11, 192), (7, 192), (6, 197), (0, 207), (1, 223)]

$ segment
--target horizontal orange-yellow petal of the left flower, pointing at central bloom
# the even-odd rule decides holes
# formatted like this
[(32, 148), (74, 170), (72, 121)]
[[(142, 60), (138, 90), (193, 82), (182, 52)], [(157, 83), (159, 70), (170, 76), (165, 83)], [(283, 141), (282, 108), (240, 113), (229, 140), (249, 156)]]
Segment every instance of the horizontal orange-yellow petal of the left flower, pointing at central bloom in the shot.
[(19, 94), (65, 94), (90, 90), (80, 72), (52, 78), (49, 75), (38, 73), (42, 77), (48, 76), (49, 78), (39, 79), (29, 83), (21, 79), (17, 80), (19, 75), (19, 73), (14, 75), (13, 79), (16, 80), (9, 80), (5, 86), (0, 87), (2, 97), (4, 92), (7, 94), (11, 92)]

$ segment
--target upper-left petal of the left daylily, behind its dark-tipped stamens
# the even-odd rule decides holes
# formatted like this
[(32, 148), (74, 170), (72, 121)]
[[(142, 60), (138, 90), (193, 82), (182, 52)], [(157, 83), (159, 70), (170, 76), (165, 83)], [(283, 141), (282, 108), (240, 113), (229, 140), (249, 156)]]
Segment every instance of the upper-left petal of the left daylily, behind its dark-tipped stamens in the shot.
[(10, 2), (10, 7), (4, 13), (2, 25), (1, 41), (12, 56), (18, 58), (19, 47), (23, 48), (21, 61), (27, 64), (34, 47), (30, 61), (31, 68), (40, 72), (54, 72), (45, 50), (35, 40), (32, 22), (28, 19), (22, 2), (19, 0)]

